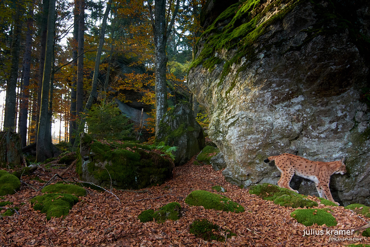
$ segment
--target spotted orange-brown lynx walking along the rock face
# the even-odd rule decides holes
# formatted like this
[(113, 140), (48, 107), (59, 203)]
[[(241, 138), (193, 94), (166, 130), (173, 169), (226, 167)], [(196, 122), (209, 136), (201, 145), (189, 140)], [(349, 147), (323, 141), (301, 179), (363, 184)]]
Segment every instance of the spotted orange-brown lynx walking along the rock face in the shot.
[[(320, 197), (330, 200), (339, 206), (339, 203), (334, 201), (332, 193), (329, 189), (330, 176), (334, 173), (346, 173), (346, 165), (344, 158), (332, 162), (311, 161), (306, 158), (296, 156), (294, 154), (280, 154), (278, 156), (270, 156), (264, 160), (266, 163), (275, 160), (277, 169), (281, 172), (281, 177), (277, 185), (281, 188), (290, 188), (289, 183), (294, 174), (307, 178), (316, 183), (316, 189)], [(298, 193), (297, 190), (293, 190)], [(325, 197), (324, 197), (325, 195)]]

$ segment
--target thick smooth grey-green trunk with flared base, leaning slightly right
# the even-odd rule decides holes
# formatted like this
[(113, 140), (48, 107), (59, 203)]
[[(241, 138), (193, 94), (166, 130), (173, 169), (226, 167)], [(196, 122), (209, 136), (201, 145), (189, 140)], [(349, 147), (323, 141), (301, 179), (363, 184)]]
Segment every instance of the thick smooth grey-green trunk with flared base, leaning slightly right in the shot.
[(50, 89), (51, 65), (53, 62), (53, 45), (54, 45), (54, 25), (55, 25), (55, 0), (50, 0), (49, 13), (47, 21), (47, 40), (45, 51), (45, 63), (43, 83), (41, 89), (41, 107), (38, 121), (36, 161), (45, 160), (45, 135), (48, 121), (48, 94)]

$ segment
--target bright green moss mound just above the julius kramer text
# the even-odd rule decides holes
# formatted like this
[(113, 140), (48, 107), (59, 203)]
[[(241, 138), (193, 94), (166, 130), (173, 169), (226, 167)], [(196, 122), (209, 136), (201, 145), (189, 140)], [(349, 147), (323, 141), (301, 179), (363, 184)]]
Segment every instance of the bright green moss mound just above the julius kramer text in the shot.
[(290, 216), (305, 226), (312, 226), (314, 223), (319, 226), (326, 224), (327, 227), (337, 225), (337, 221), (332, 214), (319, 208), (296, 209)]

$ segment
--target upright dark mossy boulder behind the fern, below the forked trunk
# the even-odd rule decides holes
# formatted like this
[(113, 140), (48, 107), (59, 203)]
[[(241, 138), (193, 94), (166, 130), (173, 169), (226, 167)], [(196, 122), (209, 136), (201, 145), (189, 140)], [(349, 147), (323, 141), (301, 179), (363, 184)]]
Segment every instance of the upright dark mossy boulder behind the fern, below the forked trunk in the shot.
[(176, 146), (175, 165), (185, 164), (199, 153), (205, 142), (203, 129), (195, 120), (191, 104), (180, 101), (163, 116), (155, 143)]

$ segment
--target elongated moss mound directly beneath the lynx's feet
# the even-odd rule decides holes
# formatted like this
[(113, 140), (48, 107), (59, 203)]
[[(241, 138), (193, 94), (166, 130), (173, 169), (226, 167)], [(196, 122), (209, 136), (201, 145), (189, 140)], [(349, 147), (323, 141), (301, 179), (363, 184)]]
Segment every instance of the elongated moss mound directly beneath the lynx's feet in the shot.
[(307, 196), (268, 183), (251, 186), (249, 194), (256, 194), (263, 200), (270, 200), (284, 207), (315, 207), (319, 205), (316, 201), (308, 200)]

